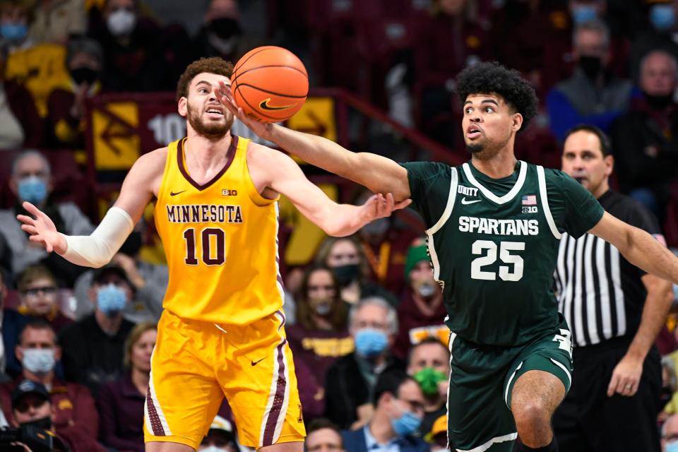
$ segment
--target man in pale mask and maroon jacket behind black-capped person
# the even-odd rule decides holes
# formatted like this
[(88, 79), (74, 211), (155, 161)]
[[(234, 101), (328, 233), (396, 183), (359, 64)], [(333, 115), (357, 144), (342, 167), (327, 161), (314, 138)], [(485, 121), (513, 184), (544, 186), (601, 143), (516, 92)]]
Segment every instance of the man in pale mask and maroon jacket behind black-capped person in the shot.
[(54, 367), (61, 359), (61, 347), (57, 345), (57, 335), (49, 323), (34, 319), (21, 331), (16, 356), (21, 363), (21, 374), (9, 383), (0, 386), (0, 406), (8, 419), (11, 419), (11, 394), (21, 381), (34, 381), (47, 388), (54, 406), (52, 424), (59, 434), (68, 435), (76, 431), (78, 436), (96, 438), (99, 428), (99, 415), (94, 399), (85, 386), (66, 383), (57, 378)]

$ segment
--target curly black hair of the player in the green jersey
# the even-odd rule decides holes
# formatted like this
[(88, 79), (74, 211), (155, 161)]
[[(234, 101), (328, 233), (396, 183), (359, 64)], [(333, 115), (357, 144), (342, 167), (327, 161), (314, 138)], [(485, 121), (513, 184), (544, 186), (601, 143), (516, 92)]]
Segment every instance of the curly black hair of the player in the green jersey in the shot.
[(461, 102), (472, 94), (497, 94), (504, 97), (511, 109), (523, 116), (520, 131), (528, 128), (537, 114), (537, 93), (530, 82), (514, 69), (507, 69), (496, 61), (482, 62), (464, 69), (457, 76), (457, 93)]

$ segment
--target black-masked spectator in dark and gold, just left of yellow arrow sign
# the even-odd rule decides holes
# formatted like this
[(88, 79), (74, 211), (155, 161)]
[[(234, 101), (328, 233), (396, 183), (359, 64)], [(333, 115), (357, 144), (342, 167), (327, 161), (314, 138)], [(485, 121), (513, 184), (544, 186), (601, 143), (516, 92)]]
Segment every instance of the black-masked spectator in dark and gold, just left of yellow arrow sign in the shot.
[(80, 37), (67, 46), (69, 80), (47, 99), (47, 141), (52, 148), (85, 148), (85, 100), (101, 91), (103, 50), (98, 42)]

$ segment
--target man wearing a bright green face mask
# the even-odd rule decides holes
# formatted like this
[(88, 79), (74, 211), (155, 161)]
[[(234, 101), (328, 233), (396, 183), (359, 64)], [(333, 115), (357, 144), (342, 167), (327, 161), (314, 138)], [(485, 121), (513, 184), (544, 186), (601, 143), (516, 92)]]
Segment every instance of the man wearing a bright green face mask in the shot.
[(408, 375), (419, 383), (424, 394), (424, 416), (417, 434), (424, 435), (434, 422), (447, 415), (447, 389), (450, 385), (450, 351), (436, 338), (413, 345), (408, 355)]

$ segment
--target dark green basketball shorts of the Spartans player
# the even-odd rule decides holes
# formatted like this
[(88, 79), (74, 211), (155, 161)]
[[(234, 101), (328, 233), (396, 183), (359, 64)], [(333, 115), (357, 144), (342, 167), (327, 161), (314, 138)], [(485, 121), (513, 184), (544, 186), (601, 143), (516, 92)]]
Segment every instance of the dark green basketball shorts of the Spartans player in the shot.
[(510, 452), (518, 437), (511, 413), (511, 391), (530, 370), (557, 376), (569, 391), (572, 382), (570, 331), (559, 328), (520, 347), (477, 345), (450, 338), (448, 440), (451, 451)]

